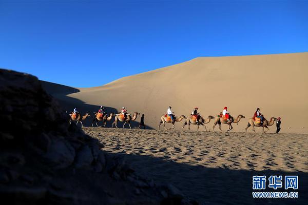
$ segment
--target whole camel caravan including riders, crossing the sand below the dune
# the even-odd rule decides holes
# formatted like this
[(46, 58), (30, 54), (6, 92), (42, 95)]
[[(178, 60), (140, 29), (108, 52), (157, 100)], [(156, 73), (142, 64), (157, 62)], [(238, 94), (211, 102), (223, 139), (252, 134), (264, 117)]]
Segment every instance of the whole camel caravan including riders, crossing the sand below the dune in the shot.
[[(109, 115), (105, 112), (105, 108), (101, 106), (98, 112), (93, 113), (93, 119), (92, 119), (92, 127), (93, 125), (96, 125), (99, 127), (99, 122), (103, 122), (101, 127), (106, 127), (107, 121), (111, 121), (112, 118), (114, 117), (114, 120), (112, 122), (112, 128), (118, 128), (118, 123), (123, 122), (123, 127), (125, 127), (126, 124), (128, 124), (128, 127), (131, 129), (131, 121), (136, 121), (138, 115), (140, 113), (134, 112), (132, 115), (127, 113), (127, 110), (125, 107), (122, 107), (121, 111), (118, 114), (115, 113), (110, 113)], [(70, 114), (70, 120), (69, 123), (71, 124), (71, 121), (76, 121), (76, 125), (81, 123), (81, 126), (83, 127), (82, 121), (85, 120), (86, 118), (90, 117), (88, 113), (85, 115), (81, 115), (78, 110), (75, 108), (74, 111)], [(142, 116), (143, 118), (143, 116)], [(184, 128), (187, 126), (188, 130), (190, 130), (190, 125), (196, 125), (197, 126), (197, 131), (199, 131), (200, 125), (204, 127), (205, 131), (208, 131), (206, 129), (206, 124), (208, 124), (212, 119), (214, 120), (214, 126), (213, 126), (213, 131), (215, 131), (215, 127), (218, 124), (218, 128), (220, 131), (221, 129), (221, 124), (225, 124), (228, 126), (227, 132), (230, 132), (233, 130), (233, 124), (238, 124), (241, 119), (244, 119), (244, 115), (238, 115), (236, 118), (230, 115), (230, 113), (227, 110), (227, 107), (224, 107), (223, 112), (221, 112), (219, 115), (216, 115), (216, 117), (208, 115), (207, 117), (203, 117), (198, 113), (198, 108), (195, 108), (194, 111), (190, 113), (190, 116), (186, 117), (185, 115), (180, 115), (180, 116), (175, 116), (174, 112), (171, 110), (171, 106), (169, 106), (167, 113), (163, 114), (160, 118), (160, 122), (158, 124), (158, 130), (160, 130), (161, 124), (163, 124), (163, 127), (165, 130), (167, 128), (165, 127), (166, 123), (169, 123), (172, 125), (170, 129), (174, 130), (175, 129), (175, 123), (180, 122), (184, 120), (184, 124), (182, 126), (182, 131)], [(144, 121), (144, 118), (142, 119)], [(252, 127), (253, 131), (255, 132), (255, 127), (262, 127), (262, 133), (266, 133), (269, 130), (269, 126), (272, 126), (277, 122), (277, 125), (279, 124), (280, 127), (280, 117), (275, 118), (271, 117), (271, 120), (267, 120), (264, 118), (264, 116), (261, 114), (260, 109), (257, 108), (257, 111), (255, 112), (254, 116), (250, 119), (248, 119), (248, 125), (245, 128), (245, 131), (247, 132), (247, 129), (249, 127)], [(142, 122), (143, 123), (143, 122)], [(264, 128), (267, 130), (264, 131)], [(277, 126), (278, 130), (278, 126)], [(280, 130), (280, 129), (279, 129)], [(276, 132), (278, 133), (278, 132)]]

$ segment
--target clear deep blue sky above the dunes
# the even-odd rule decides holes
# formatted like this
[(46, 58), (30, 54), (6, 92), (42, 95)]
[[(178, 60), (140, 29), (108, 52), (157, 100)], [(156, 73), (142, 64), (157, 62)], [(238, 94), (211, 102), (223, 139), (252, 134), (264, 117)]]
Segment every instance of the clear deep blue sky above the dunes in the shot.
[(308, 1), (2, 1), (0, 68), (73, 87), (200, 56), (308, 51)]

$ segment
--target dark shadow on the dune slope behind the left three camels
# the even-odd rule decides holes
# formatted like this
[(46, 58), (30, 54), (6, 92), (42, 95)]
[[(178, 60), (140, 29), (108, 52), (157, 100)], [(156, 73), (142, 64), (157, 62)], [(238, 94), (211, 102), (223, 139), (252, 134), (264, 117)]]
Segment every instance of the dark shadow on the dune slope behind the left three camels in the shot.
[[(90, 117), (83, 120), (82, 123), (83, 123), (83, 126), (85, 126), (85, 127), (91, 127), (91, 122), (92, 122), (93, 117), (94, 117), (94, 112), (98, 112), (98, 110), (100, 109), (100, 105), (86, 104), (84, 101), (82, 101), (80, 99), (67, 96), (67, 95), (72, 94), (72, 93), (80, 92), (79, 89), (72, 88), (72, 87), (69, 87), (69, 86), (60, 85), (60, 84), (49, 83), (49, 82), (43, 81), (43, 80), (41, 80), (41, 84), (42, 84), (44, 90), (48, 94), (52, 95), (55, 99), (57, 99), (57, 101), (59, 101), (60, 106), (65, 111), (67, 111), (68, 114), (71, 113), (75, 107), (78, 109), (78, 111), (82, 115), (89, 113)], [(104, 106), (103, 103), (104, 103), (104, 100), (102, 100), (102, 106)], [(119, 111), (115, 108), (106, 107), (106, 106), (104, 106), (104, 107), (105, 107), (106, 113), (108, 113), (108, 114), (119, 113)], [(138, 118), (137, 118), (137, 121), (131, 121), (131, 128), (138, 128), (139, 127), (138, 121), (140, 121), (140, 117), (141, 116), (139, 115)], [(113, 121), (114, 121), (114, 117), (110, 121), (107, 121), (106, 127), (111, 128)], [(124, 122), (118, 122), (118, 128), (122, 128), (123, 124), (124, 124)], [(98, 125), (102, 126), (103, 122), (102, 121), (98, 122)], [(81, 125), (79, 124), (79, 126), (81, 126)], [(93, 126), (96, 126), (96, 125), (93, 124)], [(129, 128), (128, 125), (125, 125), (125, 128)], [(145, 129), (152, 129), (152, 128), (149, 127), (149, 126), (146, 126)]]

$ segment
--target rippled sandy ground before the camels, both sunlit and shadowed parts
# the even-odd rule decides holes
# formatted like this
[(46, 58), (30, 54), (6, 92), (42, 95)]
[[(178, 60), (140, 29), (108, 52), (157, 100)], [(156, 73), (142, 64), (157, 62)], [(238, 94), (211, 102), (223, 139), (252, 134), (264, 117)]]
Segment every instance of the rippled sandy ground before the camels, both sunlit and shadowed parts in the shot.
[[(140, 175), (200, 204), (305, 204), (308, 135), (84, 128)], [(299, 175), (299, 199), (253, 199), (252, 176)], [(271, 190), (273, 191), (273, 190)], [(283, 190), (279, 190), (283, 191)]]

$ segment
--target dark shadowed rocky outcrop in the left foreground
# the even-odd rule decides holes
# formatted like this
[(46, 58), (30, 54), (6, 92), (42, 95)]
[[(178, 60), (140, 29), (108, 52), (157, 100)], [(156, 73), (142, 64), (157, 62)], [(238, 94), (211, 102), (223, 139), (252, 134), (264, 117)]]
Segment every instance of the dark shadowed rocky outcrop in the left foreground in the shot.
[[(10, 204), (189, 204), (69, 125), (32, 75), (0, 69), (0, 196)], [(121, 190), (121, 191), (119, 191)]]

